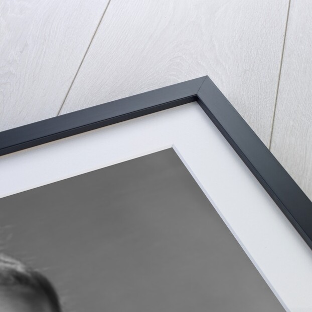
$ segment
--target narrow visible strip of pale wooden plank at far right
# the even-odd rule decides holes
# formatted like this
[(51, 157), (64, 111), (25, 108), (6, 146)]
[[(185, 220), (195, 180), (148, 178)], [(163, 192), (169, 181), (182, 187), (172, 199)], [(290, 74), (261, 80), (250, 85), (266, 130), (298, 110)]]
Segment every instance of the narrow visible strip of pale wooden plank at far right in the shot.
[(271, 151), (312, 200), (312, 3), (290, 4)]

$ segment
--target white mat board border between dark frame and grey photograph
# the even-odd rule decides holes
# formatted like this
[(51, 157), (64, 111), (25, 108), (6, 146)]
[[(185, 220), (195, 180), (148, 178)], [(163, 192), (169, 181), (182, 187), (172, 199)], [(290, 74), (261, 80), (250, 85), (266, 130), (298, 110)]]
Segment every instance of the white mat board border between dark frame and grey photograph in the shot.
[(5, 155), (0, 197), (169, 147), (286, 310), (311, 311), (311, 250), (197, 103)]

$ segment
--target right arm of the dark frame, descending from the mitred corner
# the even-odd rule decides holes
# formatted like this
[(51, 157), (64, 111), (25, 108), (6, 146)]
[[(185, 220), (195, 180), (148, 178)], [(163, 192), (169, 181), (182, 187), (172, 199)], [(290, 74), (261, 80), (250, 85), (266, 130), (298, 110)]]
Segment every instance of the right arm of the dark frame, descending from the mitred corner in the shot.
[(208, 76), (197, 102), (312, 249), (312, 202)]

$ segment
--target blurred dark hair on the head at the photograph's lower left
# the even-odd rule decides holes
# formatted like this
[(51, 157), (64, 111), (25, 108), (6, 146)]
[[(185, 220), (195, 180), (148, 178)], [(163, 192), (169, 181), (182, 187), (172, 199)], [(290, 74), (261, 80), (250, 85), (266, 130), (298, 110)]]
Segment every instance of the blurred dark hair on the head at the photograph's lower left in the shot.
[(25, 288), (47, 300), (53, 312), (62, 312), (59, 296), (49, 279), (22, 262), (0, 253), (0, 288)]

